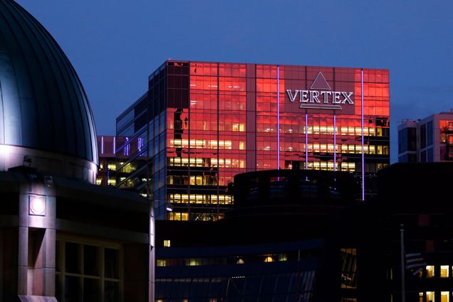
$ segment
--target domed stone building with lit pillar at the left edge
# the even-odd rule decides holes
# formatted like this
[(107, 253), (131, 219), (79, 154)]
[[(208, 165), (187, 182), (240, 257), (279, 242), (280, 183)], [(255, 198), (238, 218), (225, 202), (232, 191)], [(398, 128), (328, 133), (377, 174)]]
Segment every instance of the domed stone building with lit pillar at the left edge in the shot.
[(0, 302), (154, 301), (149, 200), (95, 185), (73, 66), (19, 4), (0, 15)]

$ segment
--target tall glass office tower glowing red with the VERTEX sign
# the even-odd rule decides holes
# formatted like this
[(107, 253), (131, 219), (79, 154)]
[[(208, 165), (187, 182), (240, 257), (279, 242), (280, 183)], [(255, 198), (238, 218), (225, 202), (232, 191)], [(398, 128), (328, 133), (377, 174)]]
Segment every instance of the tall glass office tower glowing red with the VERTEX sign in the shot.
[(350, 171), (365, 198), (390, 163), (389, 72), (167, 60), (116, 141), (117, 186), (149, 195), (160, 219), (224, 217), (248, 171)]

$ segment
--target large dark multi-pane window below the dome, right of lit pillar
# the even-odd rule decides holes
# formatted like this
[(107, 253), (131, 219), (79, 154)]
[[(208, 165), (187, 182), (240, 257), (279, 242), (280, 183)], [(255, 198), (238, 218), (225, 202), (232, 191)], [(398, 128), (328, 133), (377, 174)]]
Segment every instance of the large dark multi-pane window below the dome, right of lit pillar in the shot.
[(56, 242), (58, 301), (123, 301), (120, 296), (120, 246), (58, 239)]

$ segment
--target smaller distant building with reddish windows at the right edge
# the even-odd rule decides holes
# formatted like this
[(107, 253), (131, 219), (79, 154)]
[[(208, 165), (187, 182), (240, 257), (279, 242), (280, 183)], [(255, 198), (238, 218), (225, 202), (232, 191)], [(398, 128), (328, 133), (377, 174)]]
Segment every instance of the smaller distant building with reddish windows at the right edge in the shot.
[(402, 122), (398, 126), (398, 161), (453, 161), (453, 110)]

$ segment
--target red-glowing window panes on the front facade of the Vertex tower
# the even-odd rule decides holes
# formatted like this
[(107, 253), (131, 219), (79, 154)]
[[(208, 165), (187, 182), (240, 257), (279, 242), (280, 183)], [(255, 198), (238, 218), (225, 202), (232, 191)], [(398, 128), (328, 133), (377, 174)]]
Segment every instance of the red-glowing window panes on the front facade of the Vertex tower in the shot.
[[(167, 108), (167, 165), (172, 167), (187, 167), (191, 176), (184, 180), (188, 185), (216, 185), (210, 178), (201, 178), (202, 169), (209, 167), (217, 177), (219, 188), (227, 185), (234, 174), (244, 172), (247, 166), (245, 154), (255, 151), (256, 168), (269, 169), (293, 166), (292, 161), (300, 161), (299, 168), (320, 170), (355, 171), (355, 162), (348, 162), (347, 156), (355, 153), (365, 153), (365, 158), (385, 155), (388, 156), (387, 144), (378, 144), (373, 137), (387, 136), (388, 125), (377, 124), (377, 115), (388, 117), (388, 73), (386, 70), (364, 70), (364, 115), (365, 146), (361, 146), (362, 127), (360, 124), (360, 70), (352, 68), (311, 68), (296, 66), (280, 66), (279, 90), (280, 104), (277, 108), (277, 70), (276, 65), (254, 65), (255, 106), (256, 106), (256, 141), (254, 150), (246, 150), (246, 104), (247, 89), (250, 75), (247, 75), (246, 65), (230, 63), (189, 63), (189, 108), (184, 109), (182, 120), (187, 117), (187, 124), (182, 123), (184, 133), (177, 137), (174, 129), (172, 114), (175, 108)], [(299, 73), (295, 72), (298, 70)], [(351, 89), (355, 99), (355, 112), (343, 114), (337, 112), (336, 127), (333, 126), (331, 113), (308, 114), (308, 127), (305, 117), (300, 111), (292, 112), (285, 108), (285, 87), (287, 82), (298, 80), (303, 76), (302, 70), (308, 72), (308, 77), (316, 76), (322, 70), (328, 81), (333, 79), (339, 89)], [(292, 72), (292, 73), (291, 73)], [(247, 77), (247, 78), (246, 78)], [(253, 78), (252, 78), (253, 79)], [(309, 80), (309, 79), (308, 79)], [(352, 85), (352, 86), (351, 86)], [(377, 108), (379, 107), (379, 108)], [(276, 112), (280, 111), (277, 125)], [(295, 122), (296, 121), (296, 122)], [(278, 128), (278, 131), (277, 131)], [(386, 128), (386, 129), (385, 129)], [(332, 139), (335, 129), (336, 146)], [(305, 145), (306, 133), (308, 145)], [(175, 136), (176, 135), (176, 136)], [(279, 135), (279, 146), (277, 137)], [(337, 162), (321, 161), (311, 158), (318, 153), (326, 153), (333, 158), (337, 153)], [(306, 154), (306, 151), (308, 152)], [(211, 156), (205, 154), (211, 153)], [(280, 163), (276, 160), (280, 152)], [(199, 155), (203, 153), (203, 155)], [(298, 154), (296, 154), (298, 153)], [(179, 155), (180, 154), (180, 155)], [(306, 160), (308, 156), (308, 160)], [(179, 161), (176, 158), (181, 158)], [(303, 157), (303, 158), (301, 158)], [(343, 158), (344, 157), (344, 158)], [(175, 158), (173, 160), (172, 158)], [(200, 160), (201, 158), (201, 160)], [(210, 161), (206, 161), (211, 158)], [(217, 158), (219, 158), (217, 160)], [(382, 157), (375, 157), (376, 159)], [(216, 163), (217, 160), (217, 163)], [(366, 161), (366, 159), (365, 159)], [(209, 163), (207, 163), (209, 162)], [(378, 167), (385, 166), (388, 158)], [(373, 171), (373, 170), (372, 170)], [(194, 176), (192, 176), (194, 175)], [(167, 174), (167, 184), (172, 185), (171, 176)], [(179, 180), (180, 181), (180, 180)], [(175, 185), (177, 185), (175, 183)], [(197, 198), (195, 198), (197, 200)], [(196, 202), (196, 201), (195, 201)]]

